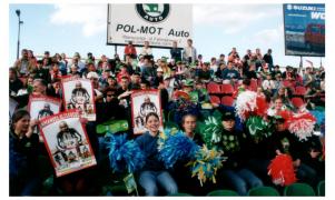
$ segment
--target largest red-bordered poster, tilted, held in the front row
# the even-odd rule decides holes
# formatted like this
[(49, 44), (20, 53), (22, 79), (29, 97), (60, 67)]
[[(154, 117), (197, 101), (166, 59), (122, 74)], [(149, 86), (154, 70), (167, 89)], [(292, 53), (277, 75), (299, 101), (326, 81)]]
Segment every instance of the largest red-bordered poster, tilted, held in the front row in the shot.
[(57, 177), (97, 164), (78, 110), (43, 118), (39, 129)]

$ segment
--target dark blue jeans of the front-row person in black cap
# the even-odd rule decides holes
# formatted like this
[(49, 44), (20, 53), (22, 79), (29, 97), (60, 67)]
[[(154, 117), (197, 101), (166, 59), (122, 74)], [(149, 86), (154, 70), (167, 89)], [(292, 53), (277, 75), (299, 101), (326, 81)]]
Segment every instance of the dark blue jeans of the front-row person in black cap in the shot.
[(246, 196), (252, 188), (262, 187), (263, 182), (250, 170), (240, 169), (237, 171), (223, 170), (221, 172), (224, 181), (228, 182), (234, 190), (240, 196)]

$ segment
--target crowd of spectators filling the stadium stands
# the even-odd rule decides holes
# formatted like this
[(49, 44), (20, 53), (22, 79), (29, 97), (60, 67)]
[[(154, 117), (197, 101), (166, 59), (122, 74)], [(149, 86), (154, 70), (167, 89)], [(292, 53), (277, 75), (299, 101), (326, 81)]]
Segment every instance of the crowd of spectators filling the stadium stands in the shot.
[[(98, 59), (88, 52), (83, 59), (76, 52), (68, 59), (65, 53), (51, 56), (46, 51), (38, 59), (32, 50), (23, 49), (21, 58), (9, 69), (9, 98), (18, 103), (9, 122), (10, 196), (128, 196), (122, 183), (125, 174), (110, 169), (105, 134), (97, 133), (97, 127), (110, 120), (127, 120), (130, 127), (130, 96), (135, 90), (148, 89), (159, 91), (165, 127), (183, 130), (199, 146), (208, 144), (199, 133), (199, 122), (218, 111), (221, 136), (231, 136), (236, 143), (227, 148), (225, 137), (211, 143), (213, 148), (224, 151), (227, 160), (216, 174), (216, 183), (207, 181), (200, 186), (184, 162), (167, 169), (157, 158), (159, 117), (149, 113), (145, 119), (147, 132), (135, 136), (131, 128), (126, 131), (127, 139), (135, 139), (146, 156), (145, 167), (135, 173), (140, 196), (178, 192), (206, 196), (223, 189), (247, 196), (259, 187), (273, 187), (283, 194), (285, 187), (276, 184), (267, 169), (270, 160), (283, 153), (292, 157), (297, 182), (317, 191), (325, 179), (324, 119), (315, 123), (313, 136), (302, 141), (288, 131), (282, 113), (286, 110), (324, 113), (324, 68), (279, 67), (272, 49), (264, 54), (260, 49), (248, 49), (243, 54), (231, 48), (227, 54), (213, 57), (207, 62), (197, 53), (193, 40), (187, 42), (184, 49), (174, 42), (170, 54), (162, 58), (155, 57), (149, 42), (141, 48), (129, 42), (124, 58), (102, 54)], [(65, 76), (92, 82), (97, 118), (86, 122), (86, 130), (98, 164), (57, 178), (35, 128), (38, 121), (30, 120), (27, 107), (31, 94), (62, 99), (60, 86)], [(274, 119), (269, 137), (253, 138), (249, 124), (238, 119), (235, 106), (245, 91), (254, 91), (266, 100), (269, 108), (264, 120)], [(179, 101), (183, 98), (187, 102)]]

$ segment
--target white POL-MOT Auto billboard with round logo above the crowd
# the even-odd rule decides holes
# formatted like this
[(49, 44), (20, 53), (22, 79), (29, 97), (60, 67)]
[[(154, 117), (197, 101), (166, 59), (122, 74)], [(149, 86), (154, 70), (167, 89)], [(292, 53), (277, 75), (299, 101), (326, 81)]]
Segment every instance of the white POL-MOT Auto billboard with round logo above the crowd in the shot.
[(132, 41), (142, 46), (170, 48), (186, 46), (191, 38), (193, 9), (190, 4), (137, 3), (108, 4), (107, 44), (125, 46)]

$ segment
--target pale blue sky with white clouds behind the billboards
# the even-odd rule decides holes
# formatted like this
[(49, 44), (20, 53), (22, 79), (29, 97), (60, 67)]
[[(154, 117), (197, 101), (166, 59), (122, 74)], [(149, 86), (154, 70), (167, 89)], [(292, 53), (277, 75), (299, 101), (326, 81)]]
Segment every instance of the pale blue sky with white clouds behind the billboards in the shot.
[[(112, 57), (114, 46), (107, 42), (107, 4), (9, 4), (9, 67), (17, 57), (18, 17), (21, 10), (20, 49), (33, 50), (41, 56), (65, 52), (72, 57), (79, 52), (86, 57), (92, 52)], [(273, 49), (275, 64), (299, 64), (299, 57), (285, 56), (283, 31), (283, 4), (193, 4), (194, 46), (208, 61), (220, 53), (228, 54), (233, 47), (240, 56), (247, 49), (260, 48), (263, 53)], [(122, 54), (124, 47), (118, 47)], [(168, 50), (154, 49), (156, 58), (169, 57)], [(121, 57), (122, 58), (122, 57)], [(321, 58), (303, 58), (321, 64)], [(324, 58), (322, 58), (324, 59)]]

